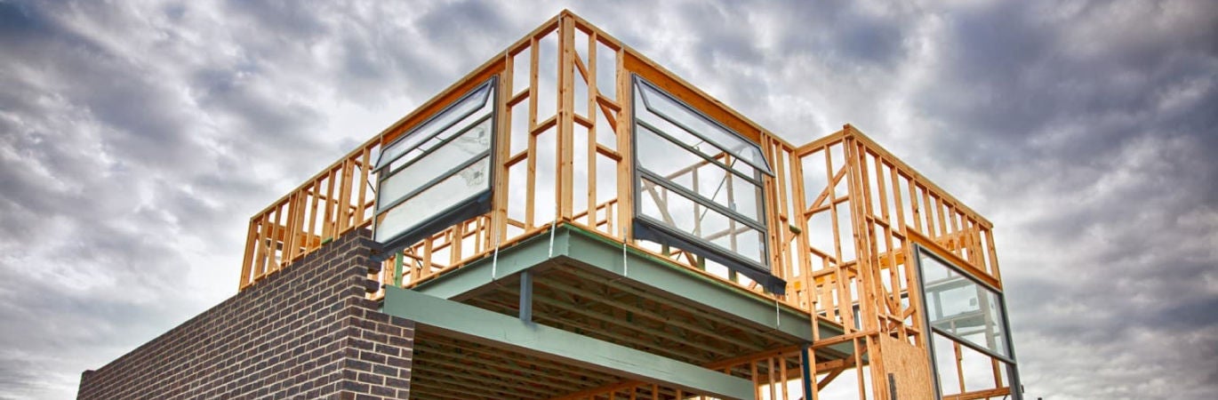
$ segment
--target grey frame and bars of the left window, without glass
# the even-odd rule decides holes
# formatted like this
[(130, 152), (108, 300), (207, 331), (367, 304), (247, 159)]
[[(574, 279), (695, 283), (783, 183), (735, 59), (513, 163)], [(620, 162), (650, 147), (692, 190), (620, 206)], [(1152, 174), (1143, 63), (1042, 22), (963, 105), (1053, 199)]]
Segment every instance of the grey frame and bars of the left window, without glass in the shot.
[[(380, 160), (380, 157), (378, 157), (376, 166), (379, 166), (379, 168), (373, 170), (373, 172), (376, 173), (376, 190), (375, 191), (380, 190), (381, 183), (385, 179), (392, 178), (397, 173), (403, 173), (403, 171), (407, 167), (415, 165), (417, 162), (419, 162), (420, 160), (423, 160), (428, 155), (435, 152), (437, 149), (453, 143), (454, 140), (457, 140), (458, 138), (460, 138), (465, 133), (469, 133), (470, 129), (474, 129), (475, 127), (477, 127), (477, 126), (480, 126), (482, 123), (486, 123), (487, 121), (490, 121), (490, 124), (491, 124), (491, 128), (490, 128), (490, 149), (487, 149), (485, 151), (481, 151), (481, 152), (477, 152), (476, 155), (470, 156), (469, 160), (465, 160), (460, 165), (458, 165), (456, 167), (452, 167), (448, 171), (445, 171), (443, 173), (437, 174), (436, 177), (426, 180), (425, 183), (420, 184), (419, 188), (415, 188), (415, 189), (413, 189), (413, 190), (403, 194), (398, 199), (395, 199), (391, 202), (386, 204), (384, 207), (380, 206), (381, 198), (380, 198), (379, 193), (376, 193), (376, 201), (373, 205), (373, 226), (371, 226), (371, 233), (373, 233), (373, 240), (376, 241), (378, 244), (380, 244), (381, 249), (376, 254), (373, 255), (373, 257), (371, 257), (373, 261), (378, 261), (378, 262), (379, 261), (384, 261), (385, 259), (389, 259), (393, 254), (396, 254), (398, 251), (402, 251), (402, 249), (406, 249), (408, 245), (414, 244), (414, 243), (417, 243), (419, 240), (423, 240), (424, 238), (428, 238), (430, 235), (434, 235), (434, 234), (438, 233), (440, 230), (443, 230), (443, 229), (451, 227), (453, 223), (458, 223), (458, 222), (462, 222), (462, 221), (465, 221), (465, 220), (469, 220), (469, 218), (473, 218), (473, 217), (476, 217), (476, 216), (480, 216), (480, 215), (484, 215), (484, 213), (487, 213), (487, 212), (492, 211), (491, 201), (492, 201), (493, 193), (495, 193), (495, 182), (497, 179), (496, 167), (495, 166), (496, 166), (496, 161), (497, 161), (496, 148), (498, 146), (498, 135), (499, 135), (499, 102), (502, 100), (501, 99), (501, 96), (502, 96), (502, 90), (501, 89), (502, 88), (499, 88), (499, 77), (498, 76), (491, 76), (485, 82), (482, 82), (479, 85), (474, 87), (473, 89), (470, 89), (468, 93), (463, 94), (457, 100), (453, 100), (452, 102), (449, 102), (448, 105), (446, 105), (442, 110), (440, 110), (435, 115), (432, 115), (432, 116), (428, 117), (426, 120), (424, 120), (423, 122), (415, 124), (413, 128), (410, 128), (410, 130), (407, 130), (407, 133), (402, 134), (401, 137), (398, 137), (397, 139), (395, 139), (392, 143), (382, 146), (382, 149), (391, 148), (391, 146), (393, 146), (393, 145), (396, 145), (398, 143), (402, 143), (402, 141), (409, 139), (409, 137), (410, 137), (412, 133), (417, 132), (419, 128), (426, 127), (429, 123), (436, 121), (436, 118), (440, 118), (440, 117), (445, 116), (445, 112), (451, 111), (453, 106), (460, 104), (462, 101), (465, 101), (465, 100), (470, 99), (474, 95), (477, 95), (479, 91), (484, 90), (485, 88), (488, 88), (490, 93), (486, 94), (487, 99), (484, 100), (484, 106), (482, 107), (463, 112), (453, 122), (451, 122), (448, 124), (445, 124), (443, 127), (437, 128), (429, 137), (419, 139), (418, 143), (414, 143), (409, 148), (402, 150), (400, 155), (397, 155), (396, 157), (393, 157), (392, 160), (387, 160), (384, 165), (381, 165), (382, 160)], [(443, 139), (441, 143), (438, 143), (438, 144), (431, 146), (430, 149), (425, 150), (423, 154), (418, 155), (413, 160), (410, 160), (410, 161), (408, 161), (408, 162), (398, 166), (397, 168), (393, 168), (393, 161), (407, 156), (412, 150), (418, 149), (420, 145), (423, 145), (423, 144), (425, 144), (425, 143), (435, 139), (441, 133), (445, 133), (446, 130), (451, 129), (452, 127), (462, 123), (463, 121), (465, 121), (465, 118), (469, 118), (470, 116), (473, 116), (473, 115), (477, 113), (479, 111), (484, 110), (485, 101), (490, 101), (491, 102), (491, 112), (490, 112), (488, 116), (477, 118), (477, 120), (475, 120), (473, 122), (469, 122), (468, 127), (460, 129), (459, 132), (453, 133), (449, 138)], [(384, 152), (381, 155), (384, 155)], [(438, 184), (440, 182), (442, 182), (445, 179), (454, 177), (458, 172), (460, 172), (460, 171), (463, 171), (465, 168), (469, 168), (469, 167), (471, 167), (471, 166), (481, 162), (484, 159), (488, 163), (486, 189), (480, 190), (480, 191), (477, 191), (475, 194), (471, 194), (471, 195), (462, 199), (462, 201), (454, 202), (453, 205), (451, 205), (448, 207), (445, 207), (443, 210), (436, 212), (431, 217), (421, 220), (421, 221), (417, 222), (415, 224), (413, 224), (413, 226), (410, 226), (410, 227), (408, 227), (406, 229), (402, 229), (401, 232), (398, 232), (397, 234), (395, 234), (395, 235), (392, 235), (390, 238), (386, 238), (384, 240), (379, 240), (376, 238), (376, 228), (378, 228), (378, 224), (380, 223), (379, 220), (380, 220), (381, 215), (392, 211), (395, 207), (397, 207), (398, 205), (401, 205), (403, 201), (407, 201), (407, 200), (409, 200), (409, 199), (412, 199), (412, 198), (421, 194), (423, 191), (426, 191), (428, 189), (431, 189), (432, 187), (435, 187), (436, 184)], [(385, 171), (384, 174), (381, 173), (382, 171)]]

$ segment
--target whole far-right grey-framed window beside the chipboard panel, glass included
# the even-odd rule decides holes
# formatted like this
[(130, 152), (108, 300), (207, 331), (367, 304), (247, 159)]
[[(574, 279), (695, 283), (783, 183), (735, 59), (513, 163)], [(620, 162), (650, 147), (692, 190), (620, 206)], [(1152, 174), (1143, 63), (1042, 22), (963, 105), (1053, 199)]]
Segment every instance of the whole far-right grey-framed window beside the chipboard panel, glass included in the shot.
[(1022, 399), (1002, 294), (926, 248), (917, 254), (940, 398), (1012, 388)]

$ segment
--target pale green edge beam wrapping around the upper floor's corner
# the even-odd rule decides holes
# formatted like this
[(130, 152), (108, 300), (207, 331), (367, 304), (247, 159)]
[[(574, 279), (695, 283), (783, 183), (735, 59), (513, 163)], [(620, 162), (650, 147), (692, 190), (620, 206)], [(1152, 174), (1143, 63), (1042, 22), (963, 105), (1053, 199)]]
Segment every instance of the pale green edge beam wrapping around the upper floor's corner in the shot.
[[(709, 305), (760, 328), (786, 334), (793, 340), (810, 341), (812, 338), (809, 316), (787, 305), (775, 304), (748, 290), (674, 266), (635, 249), (626, 249), (624, 265), (621, 243), (577, 227), (559, 226), (553, 240), (551, 237), (544, 233), (537, 234), (510, 248), (501, 249), (497, 262), (496, 257), (485, 257), (414, 289), (437, 298), (452, 299), (503, 277), (557, 260), (605, 271), (693, 302)], [(823, 324), (821, 328), (837, 330)]]

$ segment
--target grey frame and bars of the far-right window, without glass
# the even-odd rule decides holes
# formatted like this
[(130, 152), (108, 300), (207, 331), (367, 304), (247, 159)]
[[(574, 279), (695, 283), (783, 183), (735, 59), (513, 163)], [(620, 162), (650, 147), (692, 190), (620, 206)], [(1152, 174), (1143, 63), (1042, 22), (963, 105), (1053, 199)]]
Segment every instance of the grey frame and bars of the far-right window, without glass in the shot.
[[(922, 271), (922, 256), (928, 256), (931, 259), (934, 259), (935, 261), (938, 261), (940, 265), (943, 265), (949, 271), (960, 274), (965, 279), (968, 279), (970, 282), (972, 282), (972, 283), (974, 283), (974, 284), (977, 284), (977, 285), (979, 285), (979, 287), (989, 290), (990, 293), (993, 293), (994, 295), (998, 296), (999, 310), (1001, 310), (1001, 312), (1002, 312), (1002, 318), (1000, 321), (1002, 323), (1002, 340), (1006, 344), (1006, 351), (1010, 354), (1009, 356), (1000, 355), (1000, 354), (998, 354), (998, 352), (995, 352), (995, 351), (993, 351), (990, 349), (987, 349), (987, 348), (980, 346), (980, 345), (978, 345), (976, 343), (972, 343), (972, 340), (967, 340), (967, 339), (961, 338), (961, 337), (959, 337), (956, 334), (952, 334), (950, 332), (935, 328), (935, 327), (933, 327), (931, 324), (931, 312), (928, 311), (929, 310), (929, 304), (928, 304), (928, 301), (926, 299), (927, 298), (927, 295), (926, 295), (926, 278), (923, 277), (924, 273)], [(924, 343), (927, 344), (926, 350), (927, 350), (927, 352), (931, 356), (931, 372), (933, 374), (932, 378), (934, 379), (934, 396), (935, 396), (935, 399), (943, 399), (943, 391), (939, 389), (939, 387), (940, 387), (942, 383), (939, 382), (939, 362), (938, 362), (937, 351), (934, 351), (934, 337), (933, 335), (934, 334), (942, 334), (942, 335), (944, 335), (945, 338), (950, 339), (951, 341), (954, 341), (956, 344), (963, 345), (966, 348), (970, 348), (970, 349), (972, 349), (974, 351), (978, 351), (978, 352), (980, 352), (980, 354), (983, 354), (985, 356), (989, 356), (991, 359), (995, 359), (995, 360), (1001, 361), (1002, 363), (1005, 363), (1006, 365), (1006, 373), (1007, 373), (1006, 382), (1007, 382), (1007, 387), (1010, 387), (1010, 389), (1011, 389), (1011, 399), (1012, 400), (1023, 400), (1023, 384), (1019, 380), (1019, 363), (1018, 363), (1018, 361), (1015, 357), (1015, 340), (1011, 338), (1011, 321), (1010, 321), (1010, 313), (1006, 310), (1006, 294), (1002, 290), (1000, 290), (1000, 289), (998, 289), (995, 287), (991, 287), (988, 283), (982, 282), (980, 279), (977, 279), (976, 277), (973, 277), (968, 272), (965, 272), (963, 268), (957, 267), (955, 263), (948, 261), (945, 257), (940, 256), (933, 249), (929, 249), (929, 248), (927, 248), (924, 245), (916, 244), (916, 243), (914, 244), (914, 260), (917, 260), (916, 261), (917, 262), (917, 271), (916, 272), (917, 272), (918, 293), (921, 294), (921, 298), (922, 298), (922, 322), (923, 322), (923, 326), (927, 328), (926, 333), (924, 333), (926, 334)]]

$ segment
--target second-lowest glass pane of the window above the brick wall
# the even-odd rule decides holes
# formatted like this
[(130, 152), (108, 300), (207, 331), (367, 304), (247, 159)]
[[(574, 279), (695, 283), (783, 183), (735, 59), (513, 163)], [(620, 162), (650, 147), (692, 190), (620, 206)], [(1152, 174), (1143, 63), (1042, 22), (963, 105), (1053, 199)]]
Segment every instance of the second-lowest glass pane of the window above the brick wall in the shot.
[(397, 201), (462, 163), (491, 150), (491, 121), (484, 121), (459, 138), (381, 180), (376, 206), (382, 207)]

